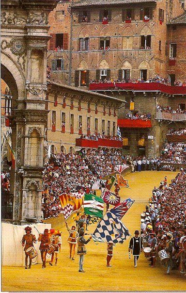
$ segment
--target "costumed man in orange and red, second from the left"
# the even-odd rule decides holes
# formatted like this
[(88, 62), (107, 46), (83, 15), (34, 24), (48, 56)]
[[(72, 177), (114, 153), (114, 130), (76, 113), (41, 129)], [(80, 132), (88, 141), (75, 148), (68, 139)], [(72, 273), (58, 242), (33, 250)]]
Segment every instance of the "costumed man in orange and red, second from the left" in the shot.
[(41, 259), (43, 261), (42, 269), (46, 268), (46, 256), (51, 244), (51, 236), (48, 234), (48, 229), (44, 230), (44, 234), (39, 234), (38, 241), (41, 241), (39, 249), (41, 251)]

